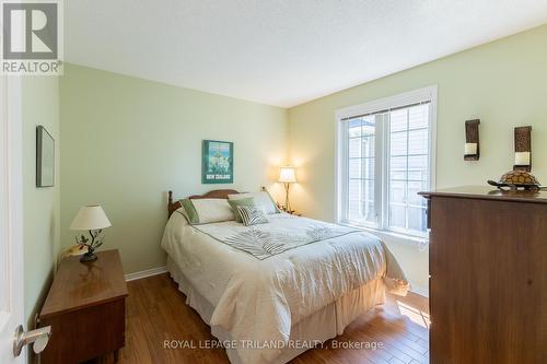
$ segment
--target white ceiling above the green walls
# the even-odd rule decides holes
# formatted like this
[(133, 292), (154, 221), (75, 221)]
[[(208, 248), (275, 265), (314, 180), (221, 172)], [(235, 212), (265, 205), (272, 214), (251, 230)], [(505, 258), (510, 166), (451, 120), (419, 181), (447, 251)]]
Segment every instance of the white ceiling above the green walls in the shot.
[(70, 0), (65, 19), (69, 62), (290, 107), (546, 23), (547, 0)]

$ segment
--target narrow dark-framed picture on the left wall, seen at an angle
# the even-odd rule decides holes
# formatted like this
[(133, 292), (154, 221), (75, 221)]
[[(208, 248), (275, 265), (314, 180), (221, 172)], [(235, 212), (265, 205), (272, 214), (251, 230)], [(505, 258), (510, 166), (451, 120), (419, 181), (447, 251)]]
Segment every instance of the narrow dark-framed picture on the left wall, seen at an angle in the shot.
[(36, 127), (36, 187), (55, 184), (55, 140), (43, 126)]

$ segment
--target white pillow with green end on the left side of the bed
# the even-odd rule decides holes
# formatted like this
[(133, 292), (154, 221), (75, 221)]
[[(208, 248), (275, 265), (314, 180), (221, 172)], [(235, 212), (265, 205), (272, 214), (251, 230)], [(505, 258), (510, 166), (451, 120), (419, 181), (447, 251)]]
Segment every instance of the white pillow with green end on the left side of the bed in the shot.
[(185, 199), (181, 204), (193, 225), (234, 220), (232, 208), (225, 199)]

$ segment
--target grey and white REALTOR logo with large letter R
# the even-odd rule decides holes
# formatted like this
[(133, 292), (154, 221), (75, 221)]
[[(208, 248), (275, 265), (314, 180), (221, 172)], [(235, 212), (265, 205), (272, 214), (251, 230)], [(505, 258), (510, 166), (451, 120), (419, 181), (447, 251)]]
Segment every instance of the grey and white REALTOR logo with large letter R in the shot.
[(2, 0), (2, 74), (62, 72), (60, 1)]

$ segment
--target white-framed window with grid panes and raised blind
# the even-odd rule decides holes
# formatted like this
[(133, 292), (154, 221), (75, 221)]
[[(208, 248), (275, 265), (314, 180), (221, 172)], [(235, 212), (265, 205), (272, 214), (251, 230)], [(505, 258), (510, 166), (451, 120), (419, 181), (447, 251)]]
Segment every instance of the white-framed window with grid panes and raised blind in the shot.
[(437, 87), (337, 111), (338, 222), (426, 236)]

